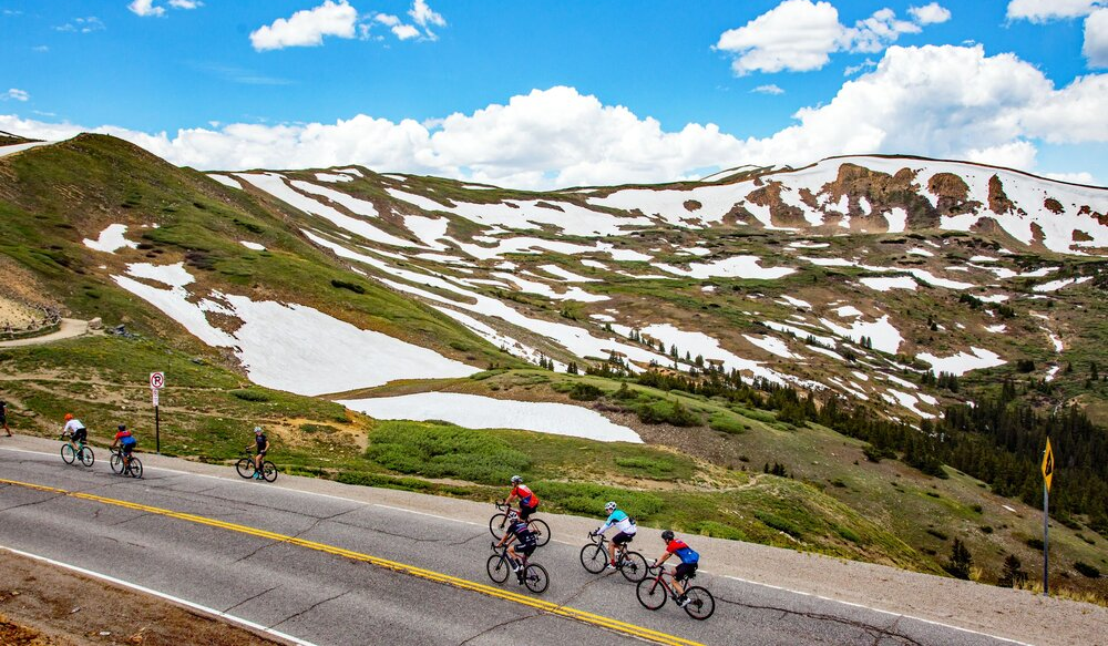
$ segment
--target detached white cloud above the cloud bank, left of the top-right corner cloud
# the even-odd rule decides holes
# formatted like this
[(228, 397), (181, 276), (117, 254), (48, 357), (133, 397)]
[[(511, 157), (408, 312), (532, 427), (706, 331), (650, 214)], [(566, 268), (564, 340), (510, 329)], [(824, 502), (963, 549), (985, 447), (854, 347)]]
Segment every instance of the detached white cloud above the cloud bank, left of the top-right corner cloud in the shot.
[(900, 20), (885, 8), (847, 27), (830, 2), (784, 0), (746, 25), (725, 31), (715, 49), (735, 57), (731, 69), (739, 76), (755, 71), (807, 72), (827, 65), (834, 52), (880, 52), (901, 34), (922, 31), (921, 24), (950, 18), (936, 2), (910, 11), (916, 22)]

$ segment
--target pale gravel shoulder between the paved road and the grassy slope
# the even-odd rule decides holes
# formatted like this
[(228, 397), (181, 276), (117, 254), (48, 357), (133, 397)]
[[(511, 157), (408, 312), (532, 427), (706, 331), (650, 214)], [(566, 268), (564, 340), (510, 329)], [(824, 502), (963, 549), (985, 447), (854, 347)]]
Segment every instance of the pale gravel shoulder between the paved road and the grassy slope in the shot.
[[(40, 438), (0, 438), (0, 448), (53, 453), (57, 442)], [(238, 480), (229, 466), (143, 454), (147, 468)], [(328, 480), (281, 475), (274, 486), (408, 510), (484, 525), (492, 505), (404, 491), (351, 486)], [(543, 514), (554, 540), (579, 545), (598, 519)], [(1108, 646), (1108, 608), (1025, 591), (906, 572), (736, 541), (693, 536), (701, 570), (767, 586), (855, 604), (1003, 637), (1024, 644)], [(636, 547), (648, 558), (663, 546), (660, 532), (640, 527)], [(656, 550), (657, 547), (657, 550)], [(0, 604), (0, 612), (4, 606)]]

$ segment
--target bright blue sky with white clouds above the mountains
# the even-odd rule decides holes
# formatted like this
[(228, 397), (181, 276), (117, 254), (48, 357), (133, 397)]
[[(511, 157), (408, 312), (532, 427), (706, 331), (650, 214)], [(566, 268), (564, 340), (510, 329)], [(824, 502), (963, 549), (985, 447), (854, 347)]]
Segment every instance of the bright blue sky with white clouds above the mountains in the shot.
[[(912, 11), (929, 7), (920, 16), (930, 18)], [(0, 130), (114, 126), (201, 167), (391, 163), (380, 170), (522, 185), (664, 181), (747, 161), (870, 152), (1104, 184), (1100, 12), (1108, 16), (1096, 0), (3, 0)], [(878, 31), (859, 22), (874, 18)], [(801, 22), (810, 29), (790, 32)], [(819, 34), (838, 44), (820, 45)], [(300, 42), (315, 37), (319, 44)], [(981, 75), (963, 78), (961, 96), (937, 107), (929, 93), (947, 94), (941, 78), (889, 114), (849, 117), (883, 104), (891, 83), (941, 76), (943, 65), (977, 65)], [(1019, 92), (1003, 86), (1005, 74), (1034, 90), (1009, 95)], [(859, 83), (868, 90), (845, 96), (844, 84)], [(983, 103), (976, 88), (986, 89)], [(1049, 93), (1057, 96), (1040, 105), (1036, 96)], [(490, 114), (497, 105), (509, 109)], [(801, 110), (820, 123), (788, 132)], [(1035, 114), (1057, 114), (1061, 125)], [(358, 115), (361, 125), (349, 125)], [(907, 136), (913, 119), (932, 127)], [(1020, 125), (1009, 127), (1013, 120)], [(853, 127), (869, 134), (844, 134)], [(243, 152), (252, 142), (281, 156)], [(556, 151), (530, 150), (542, 146)]]

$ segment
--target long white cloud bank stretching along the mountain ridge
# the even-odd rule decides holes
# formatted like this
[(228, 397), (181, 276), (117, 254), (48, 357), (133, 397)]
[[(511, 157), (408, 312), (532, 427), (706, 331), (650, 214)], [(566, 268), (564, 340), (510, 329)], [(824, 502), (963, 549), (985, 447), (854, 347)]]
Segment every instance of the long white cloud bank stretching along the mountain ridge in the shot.
[[(1108, 143), (1105, 96), (1108, 74), (1056, 88), (1030, 63), (1014, 54), (985, 55), (979, 45), (892, 47), (872, 72), (847, 81), (830, 102), (798, 111), (796, 124), (761, 139), (741, 139), (711, 123), (665, 131), (650, 116), (565, 86), (427, 123), (357, 115), (328, 124), (228, 124), (172, 134), (95, 130), (204, 170), (357, 163), (382, 172), (552, 188), (673, 181), (704, 168), (796, 166), (864, 153), (1035, 171), (1043, 142)], [(0, 116), (0, 130), (53, 140), (89, 129)]]

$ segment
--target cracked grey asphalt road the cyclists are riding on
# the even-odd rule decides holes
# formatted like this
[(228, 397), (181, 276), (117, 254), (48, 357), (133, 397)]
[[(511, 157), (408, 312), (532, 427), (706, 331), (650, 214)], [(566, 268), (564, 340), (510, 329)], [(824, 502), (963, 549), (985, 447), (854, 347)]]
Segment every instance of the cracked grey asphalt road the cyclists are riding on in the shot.
[[(484, 563), (490, 536), (483, 524), (151, 466), (142, 481), (122, 479), (107, 470), (105, 452), (100, 453), (86, 470), (52, 454), (0, 448), (0, 479), (70, 492), (0, 483), (0, 545), (109, 573), (319, 645), (640, 643), (626, 634), (630, 628), (613, 632), (494, 596), (504, 589), (535, 598), (514, 583), (495, 586), (489, 581)], [(72, 495), (76, 492), (83, 498)], [(171, 516), (162, 510), (179, 513)], [(558, 536), (558, 517), (547, 517)], [(299, 544), (264, 532), (296, 536)], [(689, 619), (673, 604), (649, 612), (636, 602), (634, 585), (618, 574), (586, 573), (577, 561), (579, 544), (555, 541), (538, 552), (535, 561), (551, 571), (552, 584), (537, 598), (679, 639), (717, 645), (1010, 644), (711, 575), (698, 577), (718, 602), (707, 622)], [(656, 545), (647, 546), (653, 554)], [(492, 586), (493, 593), (435, 583), (425, 574), (397, 572), (362, 556)], [(679, 643), (676, 638), (656, 640)]]

